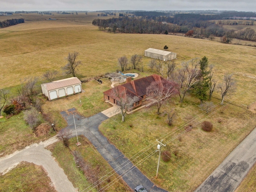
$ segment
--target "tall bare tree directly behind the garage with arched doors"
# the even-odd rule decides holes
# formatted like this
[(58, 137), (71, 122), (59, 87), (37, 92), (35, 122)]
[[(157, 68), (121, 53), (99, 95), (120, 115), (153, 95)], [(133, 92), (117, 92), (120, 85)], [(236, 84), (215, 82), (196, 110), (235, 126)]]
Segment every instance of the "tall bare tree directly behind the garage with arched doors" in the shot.
[(73, 77), (76, 77), (77, 67), (81, 64), (81, 61), (76, 60), (78, 55), (78, 52), (68, 53), (68, 57), (66, 58), (68, 63), (62, 67), (65, 74), (71, 74)]

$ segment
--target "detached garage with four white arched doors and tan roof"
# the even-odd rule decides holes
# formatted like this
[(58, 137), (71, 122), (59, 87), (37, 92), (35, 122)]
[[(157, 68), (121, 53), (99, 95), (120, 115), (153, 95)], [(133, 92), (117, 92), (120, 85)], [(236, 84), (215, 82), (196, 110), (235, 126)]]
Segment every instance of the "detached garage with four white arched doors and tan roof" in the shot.
[(76, 77), (41, 84), (42, 92), (49, 100), (82, 91), (81, 81)]

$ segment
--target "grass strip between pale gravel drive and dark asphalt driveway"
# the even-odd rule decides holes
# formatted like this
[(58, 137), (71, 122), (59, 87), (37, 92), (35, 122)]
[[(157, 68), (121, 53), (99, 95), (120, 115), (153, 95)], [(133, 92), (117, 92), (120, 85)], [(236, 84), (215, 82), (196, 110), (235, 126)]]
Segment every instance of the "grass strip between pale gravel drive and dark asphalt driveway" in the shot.
[(86, 164), (90, 165), (92, 168), (99, 166), (98, 179), (100, 179), (100, 184), (98, 186), (100, 189), (104, 187), (104, 191), (106, 192), (115, 190), (121, 192), (130, 191), (130, 188), (122, 179), (118, 179), (118, 175), (114, 173), (108, 162), (104, 160), (84, 136), (79, 136), (78, 140), (82, 144), (79, 147), (76, 146), (76, 138), (70, 139), (70, 150), (65, 148), (62, 142), (57, 142), (48, 147), (48, 150), (52, 152), (52, 155), (63, 168), (75, 188), (78, 188), (79, 191), (98, 191), (97, 187), (93, 183), (88, 182), (86, 176), (84, 176), (80, 168), (76, 166), (74, 156), (72, 155), (74, 151), (79, 152)]

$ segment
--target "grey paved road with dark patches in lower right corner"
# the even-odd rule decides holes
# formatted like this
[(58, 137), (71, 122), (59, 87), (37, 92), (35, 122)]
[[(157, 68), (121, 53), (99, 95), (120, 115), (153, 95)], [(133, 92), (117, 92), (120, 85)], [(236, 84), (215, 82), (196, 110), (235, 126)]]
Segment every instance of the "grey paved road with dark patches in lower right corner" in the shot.
[(233, 192), (256, 162), (254, 129), (195, 190), (195, 192)]

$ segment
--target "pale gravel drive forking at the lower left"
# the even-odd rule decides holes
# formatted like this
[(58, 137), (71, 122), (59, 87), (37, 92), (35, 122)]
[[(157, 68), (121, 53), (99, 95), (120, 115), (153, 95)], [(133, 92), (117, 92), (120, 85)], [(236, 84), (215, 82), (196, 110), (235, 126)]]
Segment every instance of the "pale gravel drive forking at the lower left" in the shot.
[(54, 136), (45, 142), (32, 144), (24, 150), (16, 151), (11, 155), (0, 158), (0, 173), (4, 174), (17, 166), (20, 162), (26, 161), (43, 166), (52, 180), (54, 188), (58, 192), (76, 192), (76, 189), (68, 180), (63, 169), (60, 168), (58, 163), (53, 159), (52, 153), (45, 149), (46, 146), (56, 141), (58, 141), (58, 139)]

